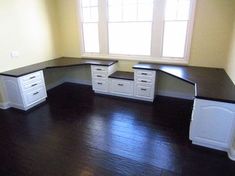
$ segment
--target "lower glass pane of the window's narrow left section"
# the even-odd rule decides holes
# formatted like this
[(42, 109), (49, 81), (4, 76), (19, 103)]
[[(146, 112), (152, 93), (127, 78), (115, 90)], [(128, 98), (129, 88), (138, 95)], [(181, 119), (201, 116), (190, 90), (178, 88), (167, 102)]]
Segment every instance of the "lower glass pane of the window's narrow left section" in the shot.
[(99, 52), (99, 35), (97, 23), (83, 24), (85, 52)]

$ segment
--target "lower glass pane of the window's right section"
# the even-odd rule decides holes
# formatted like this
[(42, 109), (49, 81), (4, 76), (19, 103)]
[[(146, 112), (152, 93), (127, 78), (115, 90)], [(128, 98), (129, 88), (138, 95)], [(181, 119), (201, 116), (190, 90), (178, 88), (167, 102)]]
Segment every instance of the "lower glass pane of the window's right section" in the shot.
[(165, 22), (163, 57), (184, 57), (187, 22)]

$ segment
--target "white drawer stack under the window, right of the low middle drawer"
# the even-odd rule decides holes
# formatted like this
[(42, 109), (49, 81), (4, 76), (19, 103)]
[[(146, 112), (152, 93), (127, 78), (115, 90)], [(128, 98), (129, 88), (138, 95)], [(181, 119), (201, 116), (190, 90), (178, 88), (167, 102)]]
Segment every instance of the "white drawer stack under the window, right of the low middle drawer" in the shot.
[(135, 98), (153, 102), (155, 97), (156, 71), (135, 69), (134, 75)]

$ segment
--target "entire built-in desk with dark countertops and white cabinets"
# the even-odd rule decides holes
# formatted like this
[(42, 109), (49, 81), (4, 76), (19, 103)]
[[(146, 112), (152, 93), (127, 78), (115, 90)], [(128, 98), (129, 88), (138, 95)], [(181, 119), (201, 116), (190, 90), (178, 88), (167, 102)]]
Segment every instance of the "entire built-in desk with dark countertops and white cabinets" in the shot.
[(96, 93), (150, 102), (157, 94), (158, 72), (164, 72), (195, 86), (189, 132), (192, 143), (226, 151), (235, 159), (235, 85), (223, 69), (138, 63), (130, 73), (117, 71), (117, 62), (63, 57), (0, 75), (8, 106), (28, 110), (47, 97), (44, 69), (90, 65)]

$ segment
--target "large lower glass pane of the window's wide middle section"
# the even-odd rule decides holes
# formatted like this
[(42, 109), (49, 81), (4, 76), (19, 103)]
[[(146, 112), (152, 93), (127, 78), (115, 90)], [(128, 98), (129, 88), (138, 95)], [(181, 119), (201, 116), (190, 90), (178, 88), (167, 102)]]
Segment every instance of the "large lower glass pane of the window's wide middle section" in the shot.
[(151, 22), (110, 23), (110, 53), (150, 55), (151, 28)]

